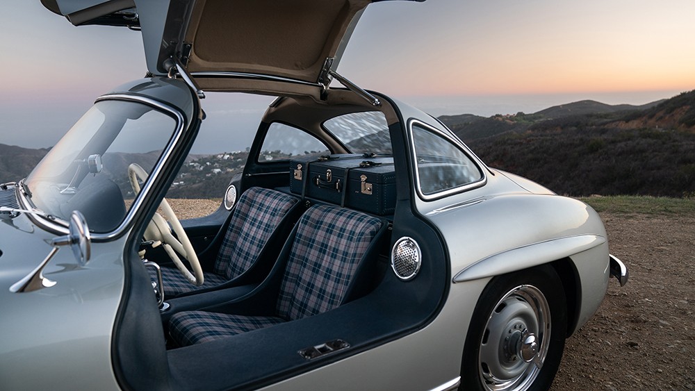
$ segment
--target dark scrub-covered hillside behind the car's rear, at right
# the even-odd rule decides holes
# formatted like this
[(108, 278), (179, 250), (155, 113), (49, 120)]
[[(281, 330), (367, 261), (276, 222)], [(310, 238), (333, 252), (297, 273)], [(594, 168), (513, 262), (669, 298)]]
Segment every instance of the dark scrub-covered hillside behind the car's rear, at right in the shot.
[(692, 197), (694, 102), (695, 91), (646, 110), (542, 119), (523, 132), (464, 141), (491, 167), (561, 194)]

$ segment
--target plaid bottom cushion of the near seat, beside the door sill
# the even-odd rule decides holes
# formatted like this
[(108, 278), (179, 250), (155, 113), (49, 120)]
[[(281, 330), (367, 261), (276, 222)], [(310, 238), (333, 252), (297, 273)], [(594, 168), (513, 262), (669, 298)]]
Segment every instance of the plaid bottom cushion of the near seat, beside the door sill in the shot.
[(169, 335), (179, 344), (188, 346), (228, 337), (285, 322), (279, 317), (250, 317), (206, 311), (183, 311), (169, 321)]

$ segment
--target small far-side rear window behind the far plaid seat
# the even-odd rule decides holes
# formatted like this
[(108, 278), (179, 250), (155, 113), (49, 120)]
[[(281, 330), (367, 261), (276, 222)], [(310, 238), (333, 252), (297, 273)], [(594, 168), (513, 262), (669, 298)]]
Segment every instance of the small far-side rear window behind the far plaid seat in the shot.
[(318, 138), (286, 124), (273, 122), (263, 140), (259, 163), (264, 161), (289, 159), (295, 156), (327, 155), (328, 147)]

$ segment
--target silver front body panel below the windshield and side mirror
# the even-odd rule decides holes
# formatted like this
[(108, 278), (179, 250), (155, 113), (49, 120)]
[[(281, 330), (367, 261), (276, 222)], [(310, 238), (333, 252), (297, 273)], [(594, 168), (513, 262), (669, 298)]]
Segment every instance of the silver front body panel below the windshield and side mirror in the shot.
[(94, 244), (83, 267), (69, 248), (60, 249), (44, 269), (54, 286), (10, 292), (46, 258), (55, 237), (26, 215), (0, 222), (0, 382), (8, 390), (117, 389), (110, 352), (124, 240)]

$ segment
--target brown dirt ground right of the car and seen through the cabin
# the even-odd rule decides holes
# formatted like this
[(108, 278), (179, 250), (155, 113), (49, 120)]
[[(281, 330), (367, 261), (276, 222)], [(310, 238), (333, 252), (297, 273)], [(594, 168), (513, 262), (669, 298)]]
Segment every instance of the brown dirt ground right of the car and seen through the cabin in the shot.
[[(170, 201), (181, 219), (219, 205)], [(612, 278), (598, 313), (566, 341), (552, 390), (695, 390), (695, 217), (601, 217), (630, 280)]]

